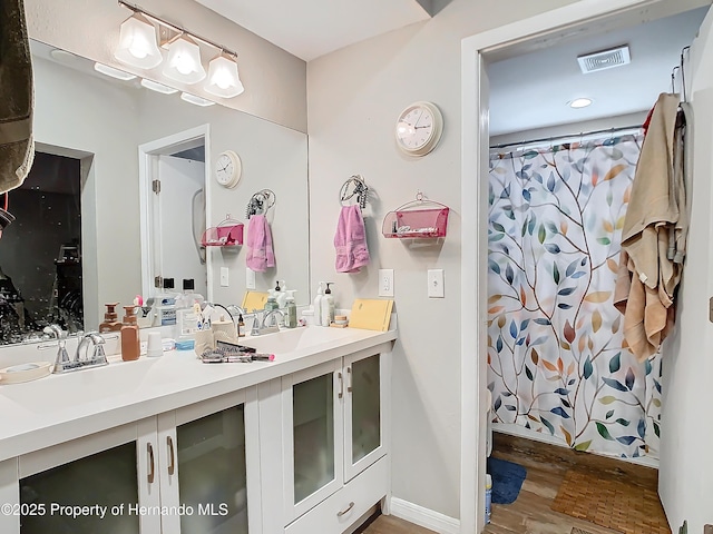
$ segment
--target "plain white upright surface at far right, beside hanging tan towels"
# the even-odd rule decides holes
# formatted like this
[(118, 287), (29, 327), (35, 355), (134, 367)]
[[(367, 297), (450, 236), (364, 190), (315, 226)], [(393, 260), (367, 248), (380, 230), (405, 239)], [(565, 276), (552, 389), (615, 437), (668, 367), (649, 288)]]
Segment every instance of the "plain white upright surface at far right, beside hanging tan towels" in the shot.
[[(713, 524), (713, 12), (694, 41), (686, 76), (696, 72), (690, 99), (694, 108), (693, 205), (687, 258), (678, 293), (676, 329), (664, 349), (663, 424), (658, 492), (674, 532), (684, 520), (688, 532)], [(705, 56), (705, 60), (702, 57)]]

